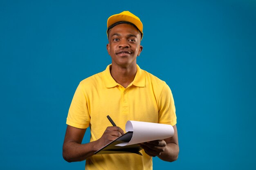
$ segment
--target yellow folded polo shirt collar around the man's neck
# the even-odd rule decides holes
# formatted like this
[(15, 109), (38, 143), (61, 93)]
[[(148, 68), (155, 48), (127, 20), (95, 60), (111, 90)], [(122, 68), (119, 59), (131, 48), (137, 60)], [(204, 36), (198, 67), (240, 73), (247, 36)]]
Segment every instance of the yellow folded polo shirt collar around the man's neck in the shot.
[[(103, 71), (103, 81), (106, 88), (112, 88), (118, 85), (118, 83), (113, 79), (110, 73), (110, 66), (111, 64), (107, 66), (105, 71)], [(137, 73), (131, 84), (138, 87), (145, 87), (145, 84), (146, 84), (145, 73), (143, 70), (139, 68), (138, 65), (137, 65)]]

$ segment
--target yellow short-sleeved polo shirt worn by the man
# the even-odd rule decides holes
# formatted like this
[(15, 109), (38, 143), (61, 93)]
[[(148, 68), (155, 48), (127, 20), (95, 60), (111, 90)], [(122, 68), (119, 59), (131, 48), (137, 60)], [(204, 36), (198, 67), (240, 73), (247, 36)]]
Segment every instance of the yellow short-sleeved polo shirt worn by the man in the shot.
[[(67, 124), (90, 126), (90, 141), (99, 139), (108, 126), (107, 115), (125, 131), (128, 120), (176, 124), (173, 95), (168, 85), (137, 65), (131, 84), (124, 88), (106, 70), (80, 82), (67, 115)], [(86, 159), (86, 170), (152, 170), (152, 157), (144, 150), (137, 154), (93, 155)]]

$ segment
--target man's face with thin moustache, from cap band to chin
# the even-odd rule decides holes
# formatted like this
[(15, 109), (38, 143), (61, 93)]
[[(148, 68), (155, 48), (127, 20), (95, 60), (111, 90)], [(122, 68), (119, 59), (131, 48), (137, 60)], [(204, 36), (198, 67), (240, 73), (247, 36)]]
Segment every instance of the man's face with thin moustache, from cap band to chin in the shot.
[(136, 58), (143, 47), (140, 45), (141, 34), (130, 24), (119, 24), (109, 32), (108, 54), (112, 58), (112, 65), (122, 67), (136, 65)]

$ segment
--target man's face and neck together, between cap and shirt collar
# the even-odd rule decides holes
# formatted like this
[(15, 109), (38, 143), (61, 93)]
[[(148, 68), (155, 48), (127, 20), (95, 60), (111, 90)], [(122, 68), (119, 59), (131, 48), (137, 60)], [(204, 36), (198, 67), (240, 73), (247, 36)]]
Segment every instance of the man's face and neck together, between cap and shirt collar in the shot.
[(119, 24), (108, 33), (107, 50), (112, 58), (111, 75), (115, 81), (126, 88), (134, 79), (136, 59), (143, 47), (141, 34), (134, 26)]

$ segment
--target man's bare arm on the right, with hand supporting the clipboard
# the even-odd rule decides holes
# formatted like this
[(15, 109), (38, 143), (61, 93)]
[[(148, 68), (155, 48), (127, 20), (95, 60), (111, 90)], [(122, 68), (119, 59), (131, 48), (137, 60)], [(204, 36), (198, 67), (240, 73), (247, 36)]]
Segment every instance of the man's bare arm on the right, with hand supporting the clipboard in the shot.
[(176, 125), (173, 126), (174, 135), (164, 140), (149, 141), (139, 144), (146, 154), (159, 157), (164, 161), (176, 161), (179, 155), (178, 134)]

